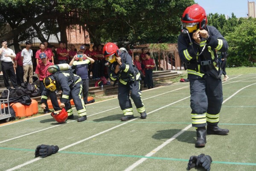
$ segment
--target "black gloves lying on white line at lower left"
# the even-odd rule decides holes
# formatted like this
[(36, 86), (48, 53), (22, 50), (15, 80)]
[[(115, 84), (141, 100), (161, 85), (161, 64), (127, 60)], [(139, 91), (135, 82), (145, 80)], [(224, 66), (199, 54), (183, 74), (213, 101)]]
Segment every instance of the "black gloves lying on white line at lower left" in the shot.
[(35, 157), (47, 157), (57, 153), (59, 150), (57, 145), (38, 145), (35, 149)]

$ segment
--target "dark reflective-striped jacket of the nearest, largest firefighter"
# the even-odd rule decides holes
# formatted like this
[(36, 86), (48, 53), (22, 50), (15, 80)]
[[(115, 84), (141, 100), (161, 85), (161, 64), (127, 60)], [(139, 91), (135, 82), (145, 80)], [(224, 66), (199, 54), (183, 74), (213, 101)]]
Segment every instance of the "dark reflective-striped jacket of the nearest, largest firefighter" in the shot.
[[(227, 41), (213, 26), (206, 26), (209, 37), (201, 38), (200, 44), (192, 38), (192, 33), (188, 35), (182, 33), (178, 37), (178, 51), (181, 60), (186, 64), (188, 74), (203, 77), (204, 74), (211, 75), (215, 78), (221, 77), (218, 57), (216, 51), (226, 52), (228, 49)], [(203, 52), (202, 52), (203, 51)], [(201, 53), (202, 52), (202, 53)], [(196, 56), (195, 54), (200, 56)]]

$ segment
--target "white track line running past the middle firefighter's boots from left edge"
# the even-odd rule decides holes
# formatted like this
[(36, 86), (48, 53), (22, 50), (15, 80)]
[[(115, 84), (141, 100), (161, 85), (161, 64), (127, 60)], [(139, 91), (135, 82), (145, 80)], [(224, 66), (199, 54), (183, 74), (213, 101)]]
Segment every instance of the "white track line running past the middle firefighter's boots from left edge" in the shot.
[[(183, 88), (187, 88), (187, 87), (189, 87), (189, 86), (184, 86), (184, 87), (181, 87), (181, 88), (178, 88), (178, 89), (172, 90), (172, 91), (168, 91), (168, 92), (165, 92), (165, 93), (162, 93), (162, 94), (158, 94), (158, 95), (156, 95), (156, 96), (161, 96), (161, 95), (163, 95), (163, 94), (171, 93), (171, 92), (173, 92), (173, 91), (181, 90), (181, 89), (183, 89)], [(151, 97), (146, 98), (146, 99), (150, 99), (150, 98), (153, 98), (153, 97), (156, 97), (156, 96), (151, 96)], [(144, 100), (146, 100), (146, 99), (144, 99)], [(73, 108), (75, 108), (75, 107), (73, 107)], [(119, 106), (118, 106), (118, 107), (111, 108), (111, 109), (108, 109), (108, 110), (104, 110), (104, 111), (99, 112), (99, 113), (104, 113), (104, 112), (107, 112), (107, 111), (109, 111), (109, 110), (113, 110), (113, 109), (116, 109), (116, 108), (119, 108)], [(99, 114), (99, 113), (94, 113), (94, 114), (89, 115), (89, 116), (97, 115), (97, 114)], [(87, 116), (87, 117), (89, 117), (89, 116)], [(74, 121), (76, 121), (76, 120), (72, 120), (72, 121), (69, 121), (69, 122), (67, 122), (67, 123), (74, 122)], [(61, 126), (61, 125), (63, 125), (63, 124), (54, 125), (54, 126), (49, 127), (49, 128), (45, 128), (45, 129), (42, 129), (42, 130), (34, 131), (34, 132), (32, 132), (32, 133), (26, 133), (26, 134), (21, 135), (21, 136), (16, 136), (16, 137), (11, 138), (11, 139), (6, 139), (6, 140), (4, 140), (4, 141), (1, 141), (1, 142), (0, 142), (0, 144), (1, 144), (1, 143), (3, 143), (3, 142), (11, 141), (11, 140), (13, 140), (13, 139), (21, 138), (21, 137), (23, 137), (23, 136), (31, 135), (31, 134), (33, 134), (33, 133), (38, 133), (38, 132), (41, 132), (41, 131), (44, 131), (44, 130), (48, 130), (48, 129), (51, 129), (51, 128), (55, 128), (55, 127), (58, 127), (58, 126)], [(5, 126), (5, 125), (3, 125), (3, 126)]]

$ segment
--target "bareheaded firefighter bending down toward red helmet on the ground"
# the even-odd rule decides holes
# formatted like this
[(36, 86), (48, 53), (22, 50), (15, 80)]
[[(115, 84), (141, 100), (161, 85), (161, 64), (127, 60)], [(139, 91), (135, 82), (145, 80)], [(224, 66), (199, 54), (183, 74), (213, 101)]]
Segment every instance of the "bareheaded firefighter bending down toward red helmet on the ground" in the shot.
[(52, 75), (44, 78), (44, 91), (41, 96), (41, 107), (45, 107), (47, 103), (47, 97), (50, 91), (61, 90), (61, 104), (60, 108), (65, 107), (68, 113), (68, 119), (73, 119), (73, 110), (70, 104), (69, 97), (72, 95), (74, 104), (76, 106), (79, 118), (77, 122), (83, 122), (87, 119), (86, 108), (84, 100), (81, 97), (82, 93), (82, 79), (73, 74), (71, 71), (55, 72)]

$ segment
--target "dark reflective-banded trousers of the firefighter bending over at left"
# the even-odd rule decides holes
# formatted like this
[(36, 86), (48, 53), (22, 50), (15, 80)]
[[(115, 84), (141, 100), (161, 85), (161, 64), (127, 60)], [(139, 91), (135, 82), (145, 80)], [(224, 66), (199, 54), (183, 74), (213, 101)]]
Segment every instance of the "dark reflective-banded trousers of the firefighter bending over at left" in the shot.
[[(70, 86), (70, 94), (73, 97), (74, 104), (79, 116), (86, 115), (86, 108), (84, 105), (84, 100), (82, 99), (82, 81)], [(73, 114), (73, 110), (70, 101), (65, 103), (65, 109), (67, 110), (68, 116)]]

